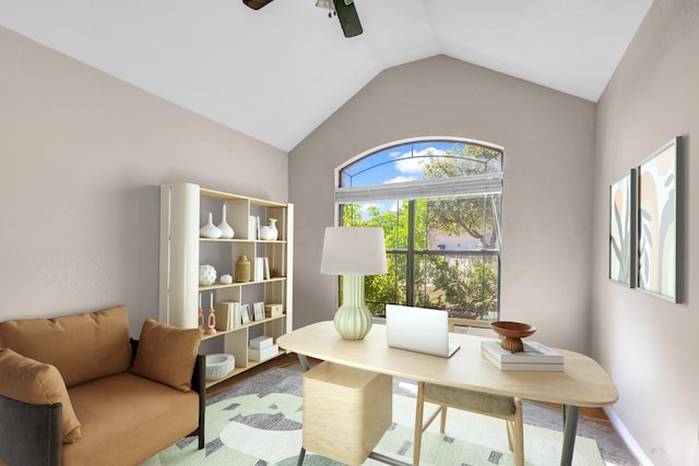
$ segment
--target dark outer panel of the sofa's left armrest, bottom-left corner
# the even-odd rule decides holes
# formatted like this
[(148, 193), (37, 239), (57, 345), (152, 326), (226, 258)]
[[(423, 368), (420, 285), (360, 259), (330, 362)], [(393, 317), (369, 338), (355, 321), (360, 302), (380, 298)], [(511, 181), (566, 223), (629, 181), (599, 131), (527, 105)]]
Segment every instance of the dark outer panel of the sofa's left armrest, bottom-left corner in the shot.
[(0, 395), (0, 463), (61, 464), (62, 405), (32, 405)]

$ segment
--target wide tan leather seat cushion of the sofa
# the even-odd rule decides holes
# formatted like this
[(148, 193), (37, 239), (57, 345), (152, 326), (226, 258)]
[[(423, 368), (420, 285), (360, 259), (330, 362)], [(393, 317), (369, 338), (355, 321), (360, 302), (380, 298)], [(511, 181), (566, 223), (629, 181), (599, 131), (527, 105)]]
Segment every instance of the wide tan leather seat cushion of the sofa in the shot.
[(73, 386), (68, 393), (83, 437), (63, 445), (63, 465), (138, 465), (199, 426), (197, 392), (182, 393), (129, 372)]

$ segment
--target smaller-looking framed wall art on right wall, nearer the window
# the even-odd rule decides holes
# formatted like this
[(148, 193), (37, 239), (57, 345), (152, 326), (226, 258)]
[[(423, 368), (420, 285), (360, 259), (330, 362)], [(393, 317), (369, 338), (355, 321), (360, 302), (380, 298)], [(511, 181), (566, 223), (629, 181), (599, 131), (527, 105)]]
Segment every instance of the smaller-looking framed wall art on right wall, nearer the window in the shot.
[(609, 186), (609, 279), (633, 287), (636, 271), (636, 169)]

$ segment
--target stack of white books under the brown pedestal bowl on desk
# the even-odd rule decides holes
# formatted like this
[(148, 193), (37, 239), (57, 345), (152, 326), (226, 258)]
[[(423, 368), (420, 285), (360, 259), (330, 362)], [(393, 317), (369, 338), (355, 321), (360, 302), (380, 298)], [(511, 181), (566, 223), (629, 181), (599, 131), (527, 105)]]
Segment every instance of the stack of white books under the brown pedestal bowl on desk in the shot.
[(524, 350), (512, 353), (502, 349), (497, 339), (485, 339), (481, 353), (502, 371), (552, 371), (564, 370), (564, 355), (536, 342), (524, 342)]

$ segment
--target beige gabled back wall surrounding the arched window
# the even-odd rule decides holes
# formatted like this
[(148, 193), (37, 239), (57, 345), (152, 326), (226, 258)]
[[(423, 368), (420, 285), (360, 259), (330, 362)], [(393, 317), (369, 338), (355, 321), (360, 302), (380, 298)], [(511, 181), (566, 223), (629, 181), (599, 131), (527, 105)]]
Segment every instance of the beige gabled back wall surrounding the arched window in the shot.
[(329, 320), (319, 273), (333, 174), (392, 141), (449, 135), (505, 147), (502, 318), (540, 340), (589, 349), (594, 104), (443, 56), (380, 73), (289, 154), (296, 204), (295, 325)]

